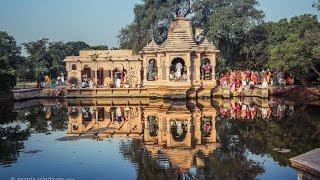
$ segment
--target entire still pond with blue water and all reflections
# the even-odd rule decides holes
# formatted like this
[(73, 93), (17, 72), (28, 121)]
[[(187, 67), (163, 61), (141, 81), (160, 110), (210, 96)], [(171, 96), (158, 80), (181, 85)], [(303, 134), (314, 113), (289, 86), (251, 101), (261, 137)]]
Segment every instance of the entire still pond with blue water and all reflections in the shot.
[(33, 100), (2, 107), (0, 179), (296, 179), (320, 107), (257, 98)]

